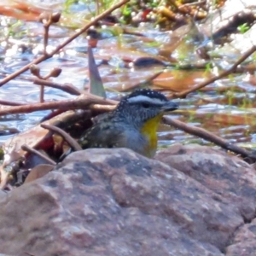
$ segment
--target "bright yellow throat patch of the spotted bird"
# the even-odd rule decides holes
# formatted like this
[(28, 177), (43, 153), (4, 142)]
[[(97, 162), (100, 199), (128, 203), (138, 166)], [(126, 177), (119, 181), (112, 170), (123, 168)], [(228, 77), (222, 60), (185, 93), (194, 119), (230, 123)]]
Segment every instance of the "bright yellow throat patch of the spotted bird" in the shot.
[(160, 113), (159, 115), (155, 116), (153, 119), (149, 119), (141, 129), (143, 136), (148, 138), (149, 143), (148, 143), (148, 148), (146, 148), (148, 157), (153, 157), (154, 152), (157, 148), (156, 131), (162, 117), (163, 117), (163, 113)]

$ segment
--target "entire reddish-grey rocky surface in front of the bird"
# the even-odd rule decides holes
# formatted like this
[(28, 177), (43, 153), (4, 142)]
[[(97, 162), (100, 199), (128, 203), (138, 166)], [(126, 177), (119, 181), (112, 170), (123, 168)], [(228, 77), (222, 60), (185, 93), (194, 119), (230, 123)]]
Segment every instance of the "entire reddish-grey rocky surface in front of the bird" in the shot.
[(87, 149), (1, 195), (0, 253), (253, 256), (255, 199), (253, 168), (216, 149)]

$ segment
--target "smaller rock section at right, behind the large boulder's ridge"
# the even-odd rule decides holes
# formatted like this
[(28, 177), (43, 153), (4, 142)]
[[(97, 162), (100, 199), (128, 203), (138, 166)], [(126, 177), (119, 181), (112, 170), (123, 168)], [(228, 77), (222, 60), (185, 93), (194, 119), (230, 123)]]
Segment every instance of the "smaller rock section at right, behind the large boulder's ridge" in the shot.
[(256, 172), (236, 156), (200, 145), (174, 145), (155, 157), (236, 205), (246, 221), (255, 216)]

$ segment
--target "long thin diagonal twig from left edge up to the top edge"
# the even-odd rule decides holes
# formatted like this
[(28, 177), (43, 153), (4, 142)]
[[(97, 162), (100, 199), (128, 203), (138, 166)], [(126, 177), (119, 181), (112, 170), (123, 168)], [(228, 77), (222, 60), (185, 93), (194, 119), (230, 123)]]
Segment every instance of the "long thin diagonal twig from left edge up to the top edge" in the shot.
[(45, 61), (45, 60), (49, 59), (50, 57), (52, 57), (53, 55), (58, 53), (60, 49), (62, 49), (67, 44), (72, 42), (73, 39), (78, 38), (81, 34), (83, 34), (90, 26), (96, 25), (96, 23), (99, 20), (102, 20), (105, 16), (110, 15), (113, 12), (113, 10), (118, 9), (120, 6), (122, 6), (123, 4), (125, 4), (125, 3), (129, 2), (129, 1), (130, 0), (123, 0), (123, 1), (121, 1), (119, 3), (117, 3), (117, 4), (114, 4), (113, 7), (109, 8), (106, 11), (104, 11), (101, 15), (96, 16), (96, 18), (94, 20), (92, 20), (89, 24), (85, 25), (79, 32), (76, 32), (76, 33), (73, 34), (72, 37), (67, 38), (66, 41), (64, 41), (62, 44), (57, 46), (56, 49), (54, 49), (52, 52), (46, 53), (45, 55), (42, 55), (42, 56), (38, 57), (38, 59), (30, 62), (29, 64), (27, 64), (24, 67), (21, 67), (20, 70), (16, 71), (15, 73), (12, 73), (8, 77), (4, 78), (2, 81), (0, 81), (0, 86), (3, 86), (3, 84), (6, 84), (11, 79), (15, 79), (15, 77), (20, 75), (20, 73), (26, 72), (32, 64), (38, 64), (38, 63), (40, 63), (42, 61)]

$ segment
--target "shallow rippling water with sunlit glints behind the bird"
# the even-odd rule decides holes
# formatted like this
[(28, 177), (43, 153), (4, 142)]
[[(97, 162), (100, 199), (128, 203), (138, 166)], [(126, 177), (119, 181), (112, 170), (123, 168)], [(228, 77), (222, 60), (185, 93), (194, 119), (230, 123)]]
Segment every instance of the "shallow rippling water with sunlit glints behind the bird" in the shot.
[[(52, 1), (41, 3), (44, 3), (44, 8), (49, 8), (49, 4), (53, 4)], [(61, 9), (61, 1), (55, 1), (54, 4), (56, 9)], [(73, 12), (82, 12), (84, 9), (83, 4), (73, 6)], [(15, 19), (0, 16), (1, 79), (5, 74), (15, 72), (42, 54), (44, 34), (42, 24), (22, 21), (14, 26), (15, 22)], [(8, 37), (10, 26), (13, 26), (14, 33)], [(148, 29), (147, 26), (137, 27), (135, 31), (143, 36), (117, 34), (113, 31), (113, 27), (103, 27), (102, 39), (98, 42), (97, 48), (93, 49), (103, 84), (111, 98), (116, 98), (119, 92), (124, 95), (139, 86), (163, 90), (168, 96), (170, 92), (186, 90), (220, 70), (217, 67), (190, 70), (180, 70), (177, 67), (186, 64), (207, 64), (208, 61), (202, 60), (197, 55), (196, 48), (199, 44), (193, 38), (184, 38), (181, 44), (175, 46), (177, 38), (173, 38), (170, 32)], [(63, 42), (73, 32), (73, 29), (67, 27), (52, 26), (49, 32), (49, 50)], [(60, 84), (71, 83), (79, 89), (84, 88), (84, 84), (88, 83), (87, 44), (86, 35), (75, 39), (59, 55), (40, 63), (38, 66), (41, 72), (45, 74), (53, 67), (61, 67), (61, 75), (52, 81)], [(219, 49), (219, 57), (216, 48), (212, 49), (215, 56), (212, 57), (211, 62), (214, 65), (226, 68), (236, 61), (237, 55), (234, 54), (233, 49), (230, 48), (230, 52), (225, 50), (225, 56), (228, 57), (224, 57)], [(141, 61), (142, 58), (147, 58), (147, 61)], [(154, 62), (155, 60), (159, 62)], [(105, 61), (105, 64), (102, 64), (102, 61)], [(22, 103), (38, 102), (40, 87), (27, 81), (26, 78), (29, 77), (32, 77), (31, 73), (26, 72), (4, 84), (0, 89), (0, 99)], [(232, 143), (253, 147), (256, 142), (254, 80), (253, 75), (247, 73), (238, 73), (220, 79), (207, 85), (203, 90), (189, 94), (186, 99), (175, 99), (181, 108), (170, 113), (170, 116), (183, 120), (189, 125), (213, 131)], [(46, 101), (73, 97), (61, 90), (45, 88)], [(0, 134), (0, 142), (15, 136), (13, 134), (15, 129), (25, 131), (36, 125), (47, 113), (49, 111), (1, 117), (0, 128), (3, 132)], [(159, 139), (160, 147), (168, 147), (172, 143), (210, 144), (201, 138), (166, 125), (160, 125)]]

